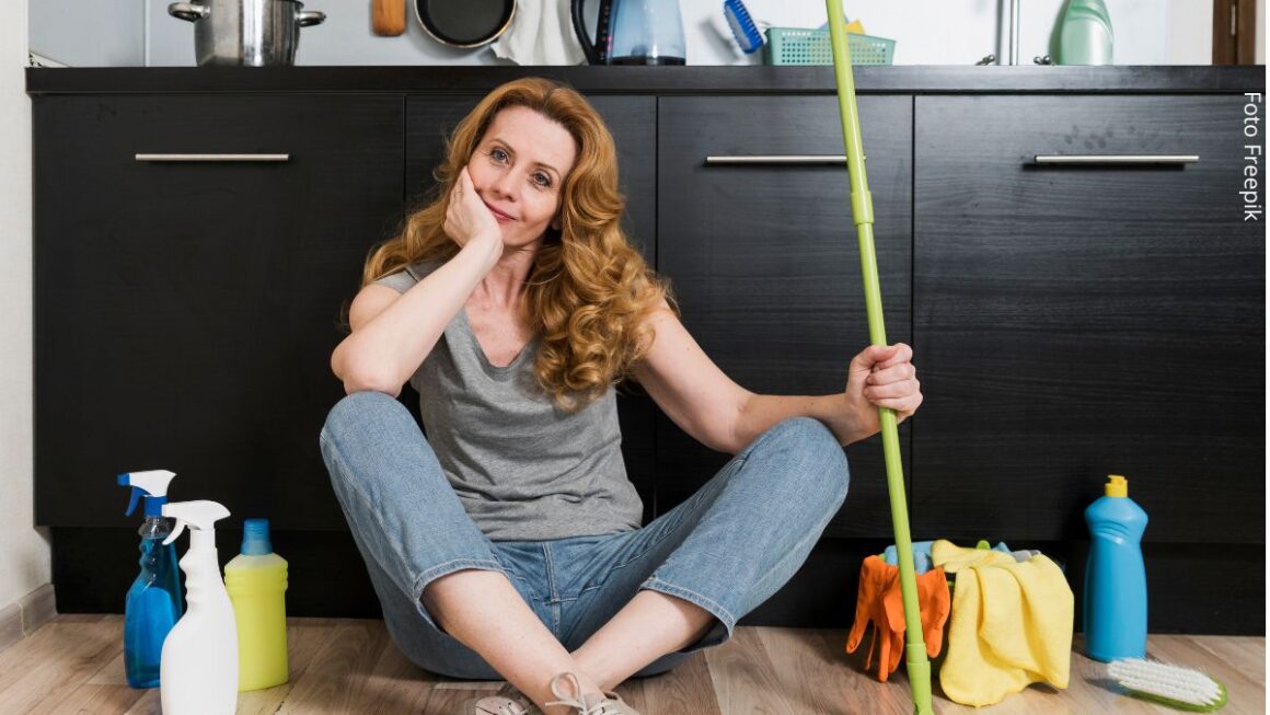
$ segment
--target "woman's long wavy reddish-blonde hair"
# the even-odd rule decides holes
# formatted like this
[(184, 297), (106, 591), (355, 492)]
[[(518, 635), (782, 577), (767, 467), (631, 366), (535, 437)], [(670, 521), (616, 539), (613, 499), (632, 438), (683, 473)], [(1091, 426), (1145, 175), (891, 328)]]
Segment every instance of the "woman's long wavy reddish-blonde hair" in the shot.
[(423, 260), (458, 253), (444, 232), (458, 174), (499, 112), (526, 107), (559, 123), (578, 147), (560, 190), (559, 230), (549, 229), (522, 288), (522, 317), (541, 338), (535, 375), (565, 411), (577, 411), (626, 377), (652, 344), (645, 321), (669, 286), (630, 246), (618, 225), (626, 208), (617, 190), (617, 151), (594, 108), (577, 91), (541, 77), (507, 83), (455, 127), (437, 185), (400, 232), (376, 246), (362, 286)]

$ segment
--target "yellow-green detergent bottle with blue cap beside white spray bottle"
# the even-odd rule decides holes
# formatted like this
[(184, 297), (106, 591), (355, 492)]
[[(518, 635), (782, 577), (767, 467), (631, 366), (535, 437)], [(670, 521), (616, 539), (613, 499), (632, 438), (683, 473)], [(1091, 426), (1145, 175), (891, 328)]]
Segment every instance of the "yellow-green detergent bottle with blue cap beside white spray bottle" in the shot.
[(239, 691), (287, 682), (287, 561), (273, 552), (269, 519), (243, 522), (243, 552), (225, 564), (239, 631)]

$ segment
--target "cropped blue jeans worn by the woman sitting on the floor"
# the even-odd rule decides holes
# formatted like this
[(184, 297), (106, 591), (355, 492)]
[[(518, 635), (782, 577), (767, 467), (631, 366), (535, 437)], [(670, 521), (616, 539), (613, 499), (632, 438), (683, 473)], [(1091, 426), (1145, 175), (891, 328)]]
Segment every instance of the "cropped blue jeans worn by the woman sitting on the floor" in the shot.
[(568, 650), (641, 589), (705, 608), (718, 622), (697, 643), (636, 676), (669, 671), (724, 643), (806, 560), (847, 495), (847, 460), (822, 423), (782, 422), (705, 486), (643, 528), (551, 541), (490, 541), (464, 511), (410, 413), (382, 392), (354, 392), (326, 418), (323, 458), (384, 606), (389, 634), (419, 667), (503, 679), (437, 627), (424, 587), (483, 569), (505, 574)]

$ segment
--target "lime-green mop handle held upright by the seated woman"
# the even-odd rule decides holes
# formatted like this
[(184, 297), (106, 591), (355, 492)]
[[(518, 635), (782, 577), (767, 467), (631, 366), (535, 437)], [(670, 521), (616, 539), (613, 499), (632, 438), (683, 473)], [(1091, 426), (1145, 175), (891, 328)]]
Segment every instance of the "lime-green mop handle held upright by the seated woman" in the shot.
[[(878, 257), (872, 241), (872, 197), (869, 194), (869, 178), (865, 175), (860, 114), (856, 110), (856, 83), (851, 74), (846, 20), (842, 17), (841, 0), (826, 0), (826, 5), (829, 9), (829, 43), (833, 46), (833, 74), (838, 84), (838, 108), (842, 112), (842, 138), (847, 149), (847, 173), (851, 177), (851, 216), (860, 235), (860, 269), (865, 281), (869, 342), (874, 345), (885, 345), (886, 328), (883, 323)], [(878, 408), (878, 420), (881, 423), (881, 446), (886, 456), (890, 519), (895, 530), (895, 550), (899, 552), (899, 589), (904, 599), (904, 654), (908, 682), (913, 690), (913, 712), (933, 715), (931, 664), (926, 659), (926, 643), (922, 640), (922, 612), (917, 603), (917, 577), (913, 573), (913, 542), (908, 535), (904, 465), (899, 458), (899, 428), (895, 413), (889, 408)]]

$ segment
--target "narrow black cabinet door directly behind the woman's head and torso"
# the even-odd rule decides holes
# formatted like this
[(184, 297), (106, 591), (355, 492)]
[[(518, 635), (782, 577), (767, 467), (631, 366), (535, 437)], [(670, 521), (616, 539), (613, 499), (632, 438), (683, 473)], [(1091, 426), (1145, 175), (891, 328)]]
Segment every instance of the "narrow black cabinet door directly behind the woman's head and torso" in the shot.
[[(433, 169), (446, 155), (444, 138), (484, 95), (410, 97), (406, 100), (406, 192), (411, 203), (436, 196)], [(599, 112), (617, 145), (618, 188), (626, 197), (622, 229), (649, 265), (654, 265), (657, 216), (657, 98), (597, 95), (587, 98)], [(418, 399), (418, 398), (415, 398)], [(645, 521), (653, 516), (653, 401), (620, 390), (626, 474), (644, 499)]]

